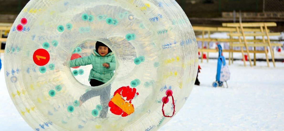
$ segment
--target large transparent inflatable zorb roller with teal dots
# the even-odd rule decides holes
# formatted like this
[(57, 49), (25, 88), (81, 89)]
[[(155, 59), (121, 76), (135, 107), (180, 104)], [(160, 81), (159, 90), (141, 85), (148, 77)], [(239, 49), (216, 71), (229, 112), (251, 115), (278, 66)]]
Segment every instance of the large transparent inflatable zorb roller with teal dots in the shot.
[[(92, 67), (68, 63), (91, 55), (97, 41), (112, 50), (116, 69), (91, 87)], [(193, 28), (174, 0), (31, 0), (10, 31), (4, 71), (34, 130), (149, 131), (181, 109), (197, 63)], [(90, 91), (97, 96), (80, 105)]]

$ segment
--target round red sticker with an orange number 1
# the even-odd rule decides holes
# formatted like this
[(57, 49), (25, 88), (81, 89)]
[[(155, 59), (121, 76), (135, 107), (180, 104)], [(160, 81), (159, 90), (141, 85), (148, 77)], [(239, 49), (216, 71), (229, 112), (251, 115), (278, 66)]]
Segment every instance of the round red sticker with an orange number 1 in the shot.
[(46, 65), (49, 62), (50, 56), (45, 49), (37, 49), (33, 56), (35, 64), (39, 66)]

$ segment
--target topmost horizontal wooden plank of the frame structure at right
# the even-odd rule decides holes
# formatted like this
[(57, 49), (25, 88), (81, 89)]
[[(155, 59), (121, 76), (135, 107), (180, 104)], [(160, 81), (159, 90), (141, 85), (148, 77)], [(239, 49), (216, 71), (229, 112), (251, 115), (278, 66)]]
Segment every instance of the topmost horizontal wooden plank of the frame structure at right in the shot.
[[(242, 27), (260, 27), (260, 26), (277, 26), (275, 22), (251, 22), (251, 23), (242, 23)], [(222, 26), (225, 27), (240, 27), (240, 23), (222, 23)]]

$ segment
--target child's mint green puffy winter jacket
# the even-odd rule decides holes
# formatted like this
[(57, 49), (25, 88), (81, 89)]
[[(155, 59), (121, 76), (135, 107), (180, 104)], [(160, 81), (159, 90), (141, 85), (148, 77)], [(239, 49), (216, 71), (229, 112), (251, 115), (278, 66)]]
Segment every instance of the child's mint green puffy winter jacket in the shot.
[[(109, 67), (103, 67), (103, 64), (107, 63), (109, 64)], [(91, 69), (90, 75), (89, 75), (89, 81), (90, 79), (96, 79), (98, 81), (101, 81), (103, 83), (108, 82), (114, 75), (115, 70), (115, 57), (112, 52), (108, 53), (105, 56), (99, 55), (96, 50), (90, 55), (85, 56), (82, 58), (77, 58), (70, 61), (70, 67), (76, 67), (81, 65), (89, 65), (92, 64), (93, 68)]]

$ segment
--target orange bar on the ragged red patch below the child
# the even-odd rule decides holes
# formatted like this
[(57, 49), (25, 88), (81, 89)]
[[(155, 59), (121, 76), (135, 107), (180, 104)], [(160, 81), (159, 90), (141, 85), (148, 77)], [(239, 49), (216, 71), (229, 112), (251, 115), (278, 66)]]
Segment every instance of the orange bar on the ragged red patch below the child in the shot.
[(111, 101), (117, 105), (122, 111), (126, 112), (128, 115), (134, 112), (134, 107), (131, 103), (125, 102), (124, 99), (121, 98), (121, 96), (116, 93)]

